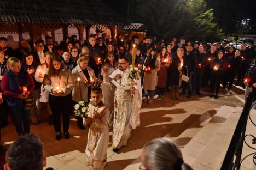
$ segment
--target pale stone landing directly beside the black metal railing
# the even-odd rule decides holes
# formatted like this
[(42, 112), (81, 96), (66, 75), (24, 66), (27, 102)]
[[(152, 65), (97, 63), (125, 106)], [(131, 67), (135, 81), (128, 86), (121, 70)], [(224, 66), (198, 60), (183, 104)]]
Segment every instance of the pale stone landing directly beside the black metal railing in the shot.
[[(197, 142), (198, 148), (195, 148), (195, 150), (200, 149), (201, 153), (196, 156), (195, 154), (192, 155), (195, 157), (194, 163), (190, 163), (193, 169), (200, 170), (220, 168), (226, 154), (226, 150), (229, 147), (232, 135), (234, 134), (238, 119), (241, 116), (241, 112), (241, 107), (234, 108), (229, 118), (227, 118), (228, 116), (223, 117), (227, 119), (218, 127), (218, 130), (211, 139), (207, 139), (204, 143), (201, 141), (200, 144)], [(223, 116), (223, 114), (221, 115)], [(201, 131), (204, 131), (204, 128)], [(198, 152), (199, 151), (197, 151), (197, 153)]]

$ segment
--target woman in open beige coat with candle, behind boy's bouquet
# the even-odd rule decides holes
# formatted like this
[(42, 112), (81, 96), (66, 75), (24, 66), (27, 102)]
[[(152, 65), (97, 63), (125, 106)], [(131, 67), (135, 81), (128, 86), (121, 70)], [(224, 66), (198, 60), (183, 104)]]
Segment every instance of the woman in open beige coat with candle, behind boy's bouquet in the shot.
[[(74, 77), (74, 88), (72, 92), (72, 99), (75, 102), (83, 99), (89, 101), (91, 94), (91, 85), (94, 84), (95, 74), (89, 66), (89, 57), (81, 54), (77, 60), (77, 66), (72, 70)], [(77, 125), (80, 129), (84, 129), (83, 119), (77, 117)]]

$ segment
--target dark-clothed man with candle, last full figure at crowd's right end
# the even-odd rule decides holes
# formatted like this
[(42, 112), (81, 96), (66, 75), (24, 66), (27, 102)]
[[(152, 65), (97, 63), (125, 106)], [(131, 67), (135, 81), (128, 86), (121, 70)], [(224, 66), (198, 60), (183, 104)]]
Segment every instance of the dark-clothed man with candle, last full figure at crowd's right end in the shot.
[(253, 55), (251, 53), (251, 51), (246, 47), (247, 44), (243, 43), (241, 45), (241, 68), (240, 70), (238, 70), (238, 75), (237, 75), (237, 85), (238, 86), (242, 86), (243, 88), (245, 88), (245, 84), (243, 83), (243, 78), (245, 77), (246, 71), (248, 70), (252, 59), (253, 59)]

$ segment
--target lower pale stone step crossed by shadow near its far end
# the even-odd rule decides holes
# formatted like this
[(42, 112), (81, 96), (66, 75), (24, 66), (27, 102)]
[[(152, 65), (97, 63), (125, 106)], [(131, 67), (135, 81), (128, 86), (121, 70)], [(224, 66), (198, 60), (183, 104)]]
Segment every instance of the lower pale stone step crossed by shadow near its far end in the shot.
[(208, 121), (202, 129), (196, 133), (191, 141), (181, 148), (184, 162), (193, 165), (197, 157), (206, 148), (211, 139), (216, 135), (220, 127), (234, 112), (235, 107), (222, 106), (219, 111)]

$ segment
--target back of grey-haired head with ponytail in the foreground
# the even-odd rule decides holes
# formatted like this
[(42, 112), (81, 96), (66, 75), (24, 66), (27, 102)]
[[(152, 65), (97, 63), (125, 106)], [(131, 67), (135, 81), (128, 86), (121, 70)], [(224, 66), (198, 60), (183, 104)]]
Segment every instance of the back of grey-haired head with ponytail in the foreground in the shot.
[(184, 163), (181, 150), (169, 138), (156, 138), (144, 145), (139, 169), (192, 170)]

